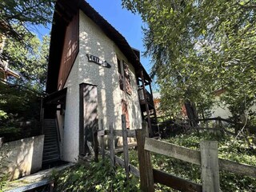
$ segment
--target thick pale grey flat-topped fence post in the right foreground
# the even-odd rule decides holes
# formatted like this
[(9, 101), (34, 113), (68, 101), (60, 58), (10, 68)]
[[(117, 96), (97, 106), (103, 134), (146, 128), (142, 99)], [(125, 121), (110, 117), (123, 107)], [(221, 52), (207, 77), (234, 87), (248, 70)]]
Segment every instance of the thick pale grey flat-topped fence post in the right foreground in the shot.
[(218, 142), (200, 142), (202, 191), (219, 191)]

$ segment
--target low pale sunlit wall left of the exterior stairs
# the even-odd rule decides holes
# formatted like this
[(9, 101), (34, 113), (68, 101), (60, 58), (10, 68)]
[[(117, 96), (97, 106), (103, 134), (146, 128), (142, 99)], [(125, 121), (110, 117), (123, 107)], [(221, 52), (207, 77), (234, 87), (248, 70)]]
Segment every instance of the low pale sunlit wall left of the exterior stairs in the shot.
[(10, 180), (33, 174), (42, 167), (44, 135), (6, 142), (0, 148), (0, 178)]

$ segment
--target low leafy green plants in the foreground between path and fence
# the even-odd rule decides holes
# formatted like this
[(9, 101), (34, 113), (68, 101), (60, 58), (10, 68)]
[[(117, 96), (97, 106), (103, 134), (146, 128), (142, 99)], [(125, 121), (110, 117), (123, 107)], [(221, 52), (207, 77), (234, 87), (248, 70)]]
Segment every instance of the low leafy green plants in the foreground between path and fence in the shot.
[[(131, 176), (126, 181), (122, 168), (114, 170), (110, 162), (78, 164), (53, 173), (54, 191), (138, 191), (139, 182)], [(56, 184), (55, 184), (56, 183)]]

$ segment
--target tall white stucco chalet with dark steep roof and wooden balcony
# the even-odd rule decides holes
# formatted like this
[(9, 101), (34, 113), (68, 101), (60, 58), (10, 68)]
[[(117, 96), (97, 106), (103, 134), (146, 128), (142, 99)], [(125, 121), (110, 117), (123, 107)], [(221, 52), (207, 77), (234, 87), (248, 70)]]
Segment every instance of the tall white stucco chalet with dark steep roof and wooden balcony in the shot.
[(94, 130), (122, 129), (122, 114), (127, 128), (140, 129), (143, 119), (151, 127), (151, 79), (139, 51), (84, 1), (57, 1), (53, 23), (43, 162), (90, 154)]

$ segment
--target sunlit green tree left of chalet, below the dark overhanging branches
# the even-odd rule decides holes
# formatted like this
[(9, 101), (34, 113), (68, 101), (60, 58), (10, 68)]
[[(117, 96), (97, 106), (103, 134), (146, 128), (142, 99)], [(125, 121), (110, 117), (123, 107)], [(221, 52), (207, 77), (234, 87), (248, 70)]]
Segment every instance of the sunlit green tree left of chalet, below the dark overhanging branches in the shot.
[(12, 122), (14, 118), (38, 118), (40, 112), (39, 97), (46, 86), (50, 37), (44, 36), (41, 42), (34, 36), (26, 42), (30, 49), (7, 39), (2, 52), (3, 58), (9, 59), (9, 65), (12, 70), (18, 71), (20, 78), (10, 77), (10, 85), (0, 82), (1, 122)]

